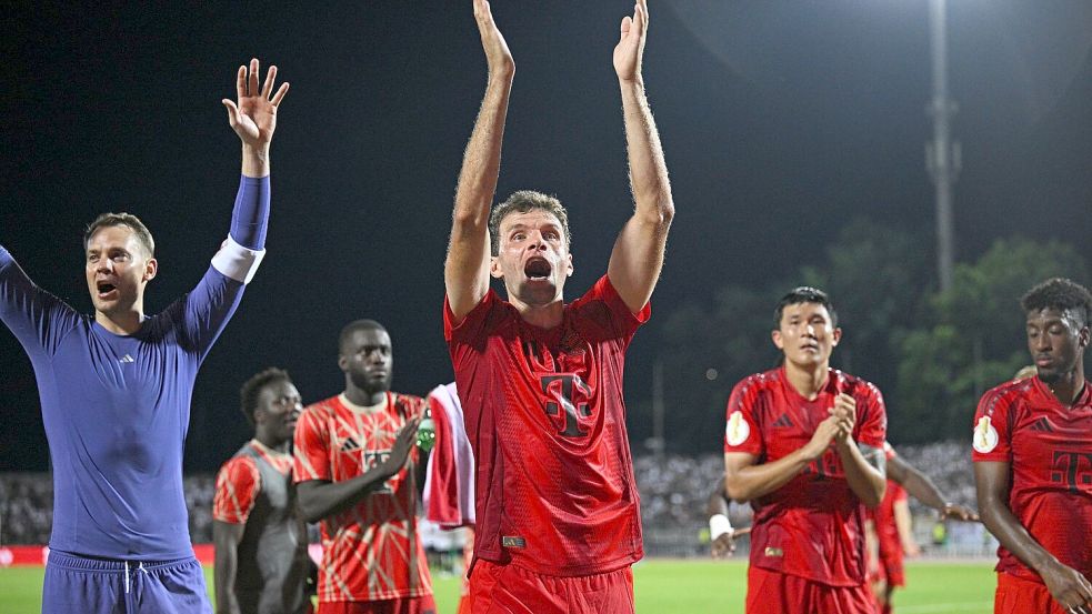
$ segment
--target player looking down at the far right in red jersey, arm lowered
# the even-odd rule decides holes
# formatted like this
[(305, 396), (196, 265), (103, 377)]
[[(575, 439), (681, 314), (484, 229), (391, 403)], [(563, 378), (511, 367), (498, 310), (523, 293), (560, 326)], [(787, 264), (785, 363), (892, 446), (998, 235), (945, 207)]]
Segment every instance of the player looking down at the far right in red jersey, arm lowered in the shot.
[(1021, 300), (1036, 375), (986, 392), (972, 459), (982, 522), (1001, 543), (994, 612), (1092, 613), (1092, 296), (1051, 279)]

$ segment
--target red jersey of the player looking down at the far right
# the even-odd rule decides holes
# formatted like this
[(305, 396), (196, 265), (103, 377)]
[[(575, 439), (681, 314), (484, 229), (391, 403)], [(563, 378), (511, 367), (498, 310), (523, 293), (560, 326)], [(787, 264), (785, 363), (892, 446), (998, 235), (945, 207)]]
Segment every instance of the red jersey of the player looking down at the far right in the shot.
[[(1059, 403), (1039, 378), (986, 392), (974, 414), (972, 460), (1010, 463), (1009, 509), (1059, 561), (1092, 578), (1092, 391)], [(1042, 583), (1004, 547), (996, 570)]]

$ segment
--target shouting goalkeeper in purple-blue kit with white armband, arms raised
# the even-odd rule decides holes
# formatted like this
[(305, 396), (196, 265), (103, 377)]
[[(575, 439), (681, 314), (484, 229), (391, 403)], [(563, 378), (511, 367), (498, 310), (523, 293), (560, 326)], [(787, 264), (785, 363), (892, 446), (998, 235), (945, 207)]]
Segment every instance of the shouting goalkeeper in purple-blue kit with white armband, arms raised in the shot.
[(154, 242), (128, 213), (83, 235), (92, 315), (37, 286), (0, 246), (0, 320), (30, 356), (53, 465), (42, 611), (210, 612), (182, 495), (193, 380), (264, 255), (269, 145), (288, 83), (259, 88), (258, 60), (223, 100), (242, 141), (231, 230), (184, 296), (144, 314)]

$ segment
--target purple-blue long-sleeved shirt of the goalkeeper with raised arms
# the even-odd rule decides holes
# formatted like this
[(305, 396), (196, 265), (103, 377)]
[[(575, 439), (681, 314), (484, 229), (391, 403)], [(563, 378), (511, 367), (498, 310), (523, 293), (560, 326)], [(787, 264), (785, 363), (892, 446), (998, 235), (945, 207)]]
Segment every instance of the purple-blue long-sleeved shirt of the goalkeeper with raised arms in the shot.
[[(268, 199), (268, 178), (242, 179), (236, 218), (258, 220), (260, 240), (238, 220), (231, 238), (256, 253)], [(34, 285), (0, 245), (0, 320), (33, 363), (53, 463), (51, 548), (130, 561), (192, 556), (182, 450), (193, 381), (243, 293), (242, 281), (217, 266), (246, 279), (222, 262), (137, 333), (119, 335)]]

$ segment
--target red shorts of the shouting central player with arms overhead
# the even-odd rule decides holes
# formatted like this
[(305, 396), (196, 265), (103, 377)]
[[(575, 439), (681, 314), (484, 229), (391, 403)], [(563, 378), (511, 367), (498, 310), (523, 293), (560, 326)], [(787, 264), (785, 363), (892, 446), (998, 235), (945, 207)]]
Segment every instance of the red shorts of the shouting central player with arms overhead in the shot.
[(633, 571), (573, 577), (541, 575), (478, 560), (470, 574), (472, 614), (632, 614)]

